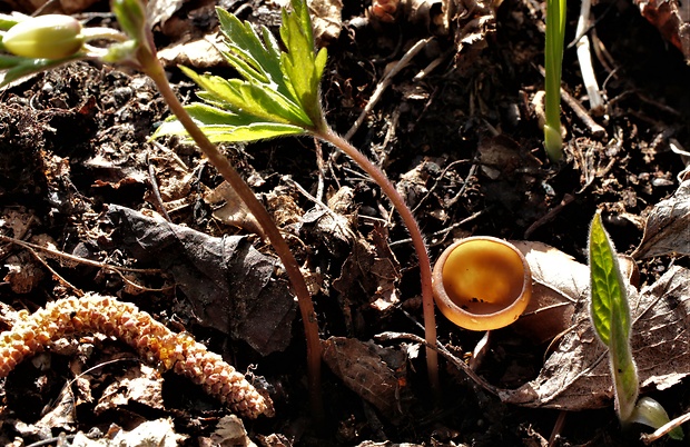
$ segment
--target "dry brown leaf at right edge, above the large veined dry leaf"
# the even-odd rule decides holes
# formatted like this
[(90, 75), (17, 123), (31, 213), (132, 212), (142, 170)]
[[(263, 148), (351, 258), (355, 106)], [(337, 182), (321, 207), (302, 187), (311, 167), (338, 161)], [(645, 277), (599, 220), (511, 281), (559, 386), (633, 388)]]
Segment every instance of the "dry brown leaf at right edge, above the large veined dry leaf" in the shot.
[(690, 180), (654, 206), (644, 224), (644, 236), (632, 257), (690, 255)]

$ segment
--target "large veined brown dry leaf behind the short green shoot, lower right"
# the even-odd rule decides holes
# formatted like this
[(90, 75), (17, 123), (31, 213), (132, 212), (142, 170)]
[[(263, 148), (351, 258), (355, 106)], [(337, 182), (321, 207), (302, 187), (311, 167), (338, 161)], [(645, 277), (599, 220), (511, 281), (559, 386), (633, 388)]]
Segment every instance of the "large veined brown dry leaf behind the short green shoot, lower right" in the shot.
[[(632, 355), (642, 388), (666, 389), (690, 374), (690, 270), (673, 266), (640, 292), (628, 288)], [(505, 403), (583, 410), (613, 404), (607, 348), (594, 335), (586, 299), (539, 377), (499, 393)]]

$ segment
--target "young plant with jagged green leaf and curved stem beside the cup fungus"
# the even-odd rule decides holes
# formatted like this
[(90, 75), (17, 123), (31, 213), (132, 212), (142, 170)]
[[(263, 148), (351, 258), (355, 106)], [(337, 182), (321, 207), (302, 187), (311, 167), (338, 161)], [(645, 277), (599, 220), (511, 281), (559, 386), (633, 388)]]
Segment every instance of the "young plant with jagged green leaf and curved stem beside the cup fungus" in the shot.
[[(412, 211), (386, 175), (326, 123), (321, 105), (319, 82), (326, 64), (326, 49), (314, 51), (314, 34), (305, 0), (292, 0), (283, 11), (283, 48), (265, 27), (255, 30), (223, 9), (217, 9), (225, 44), (220, 48), (243, 79), (197, 74), (183, 69), (203, 90), (204, 102), (186, 107), (199, 128), (214, 142), (255, 141), (283, 136), (312, 136), (329, 142), (351, 157), (381, 187), (396, 208), (420, 262), (426, 341), (435, 345), (436, 325), (432, 295), (431, 262), (422, 232)], [(171, 117), (155, 137), (187, 137), (181, 122)], [(437, 356), (426, 350), (432, 387), (438, 390)]]

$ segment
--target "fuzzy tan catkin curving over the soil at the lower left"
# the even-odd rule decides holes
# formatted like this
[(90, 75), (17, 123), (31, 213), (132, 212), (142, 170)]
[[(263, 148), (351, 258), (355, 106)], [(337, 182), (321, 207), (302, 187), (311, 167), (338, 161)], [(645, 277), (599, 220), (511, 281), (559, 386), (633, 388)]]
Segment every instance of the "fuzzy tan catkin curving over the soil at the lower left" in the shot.
[(59, 299), (31, 315), (19, 311), (12, 329), (0, 334), (0, 377), (50, 342), (85, 332), (100, 332), (125, 341), (148, 364), (188, 377), (244, 417), (273, 414), (268, 397), (190, 335), (170, 331), (135, 305), (98, 295)]

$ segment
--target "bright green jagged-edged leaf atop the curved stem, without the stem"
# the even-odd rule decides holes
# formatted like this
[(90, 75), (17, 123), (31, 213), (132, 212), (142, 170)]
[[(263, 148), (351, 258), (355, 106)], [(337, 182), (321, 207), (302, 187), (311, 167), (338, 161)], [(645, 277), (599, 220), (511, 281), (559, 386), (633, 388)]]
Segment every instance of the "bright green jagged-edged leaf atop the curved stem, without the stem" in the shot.
[[(326, 50), (314, 51), (306, 1), (293, 0), (292, 6), (292, 12), (283, 10), (280, 38), (285, 51), (266, 27), (255, 29), (249, 22), (217, 9), (226, 38), (221, 52), (243, 79), (198, 74), (180, 67), (203, 89), (197, 96), (209, 109), (195, 106), (196, 109), (188, 110), (196, 113), (195, 120), (201, 130), (209, 132), (213, 141), (298, 135), (325, 126), (319, 82), (326, 66)], [(229, 113), (227, 122), (221, 121), (220, 110)], [(269, 126), (272, 123), (275, 126)], [(239, 129), (243, 126), (254, 127), (243, 131)], [(224, 137), (223, 132), (228, 135)], [(160, 135), (184, 135), (184, 130), (174, 121), (167, 121), (156, 132)]]

